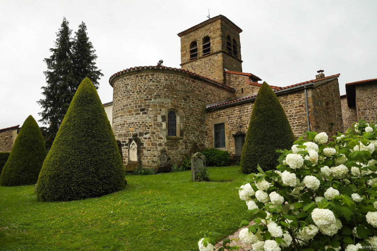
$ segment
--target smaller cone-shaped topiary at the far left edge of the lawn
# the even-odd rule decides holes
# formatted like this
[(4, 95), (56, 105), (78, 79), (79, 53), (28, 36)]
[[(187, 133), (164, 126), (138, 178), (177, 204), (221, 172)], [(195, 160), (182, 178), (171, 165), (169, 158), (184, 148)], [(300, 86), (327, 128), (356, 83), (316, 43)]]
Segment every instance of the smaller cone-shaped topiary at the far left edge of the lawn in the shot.
[(46, 158), (46, 146), (37, 122), (30, 115), (23, 123), (8, 161), (0, 175), (2, 186), (24, 186), (35, 184)]

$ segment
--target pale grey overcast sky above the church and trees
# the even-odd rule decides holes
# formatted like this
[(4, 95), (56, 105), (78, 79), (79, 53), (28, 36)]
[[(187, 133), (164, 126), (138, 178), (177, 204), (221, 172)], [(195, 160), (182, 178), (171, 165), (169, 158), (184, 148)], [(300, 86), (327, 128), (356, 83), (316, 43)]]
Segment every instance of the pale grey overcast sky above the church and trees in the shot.
[[(344, 85), (377, 78), (377, 1), (0, 1), (0, 129), (40, 119), (37, 100), (46, 85), (63, 17), (72, 33), (84, 21), (104, 77), (98, 93), (112, 101), (109, 78), (141, 66), (179, 68), (177, 33), (222, 14), (241, 27), (244, 72), (286, 86), (340, 73)], [(39, 123), (42, 125), (41, 123)]]

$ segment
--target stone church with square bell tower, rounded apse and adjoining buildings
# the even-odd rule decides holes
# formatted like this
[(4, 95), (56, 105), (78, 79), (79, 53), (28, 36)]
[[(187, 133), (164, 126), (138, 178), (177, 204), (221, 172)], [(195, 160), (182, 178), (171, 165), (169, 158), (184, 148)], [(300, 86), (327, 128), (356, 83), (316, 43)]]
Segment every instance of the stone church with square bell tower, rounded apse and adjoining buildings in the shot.
[[(110, 77), (113, 101), (104, 108), (128, 170), (159, 167), (166, 159), (178, 164), (204, 148), (239, 158), (262, 81), (242, 70), (241, 32), (218, 15), (178, 33), (181, 68), (160, 61)], [(333, 135), (360, 118), (374, 120), (377, 103), (369, 101), (377, 95), (376, 79), (346, 84), (341, 97), (340, 74), (314, 75), (286, 87), (271, 85), (296, 137), (308, 128)]]

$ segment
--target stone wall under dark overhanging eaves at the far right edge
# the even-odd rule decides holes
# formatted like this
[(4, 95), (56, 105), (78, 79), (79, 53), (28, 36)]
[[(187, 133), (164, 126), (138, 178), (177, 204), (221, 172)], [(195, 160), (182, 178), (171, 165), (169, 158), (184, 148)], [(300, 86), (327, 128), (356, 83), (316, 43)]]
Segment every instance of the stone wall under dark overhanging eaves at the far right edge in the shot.
[(357, 120), (376, 121), (377, 83), (356, 86)]

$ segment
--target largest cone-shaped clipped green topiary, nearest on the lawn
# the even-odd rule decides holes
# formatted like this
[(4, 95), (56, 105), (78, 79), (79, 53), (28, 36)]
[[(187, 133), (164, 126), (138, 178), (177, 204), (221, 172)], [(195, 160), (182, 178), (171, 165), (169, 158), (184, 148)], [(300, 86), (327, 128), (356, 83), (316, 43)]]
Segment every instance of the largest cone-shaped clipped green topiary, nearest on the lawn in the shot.
[(114, 133), (92, 82), (78, 87), (43, 163), (40, 201), (67, 201), (123, 187), (124, 166)]

